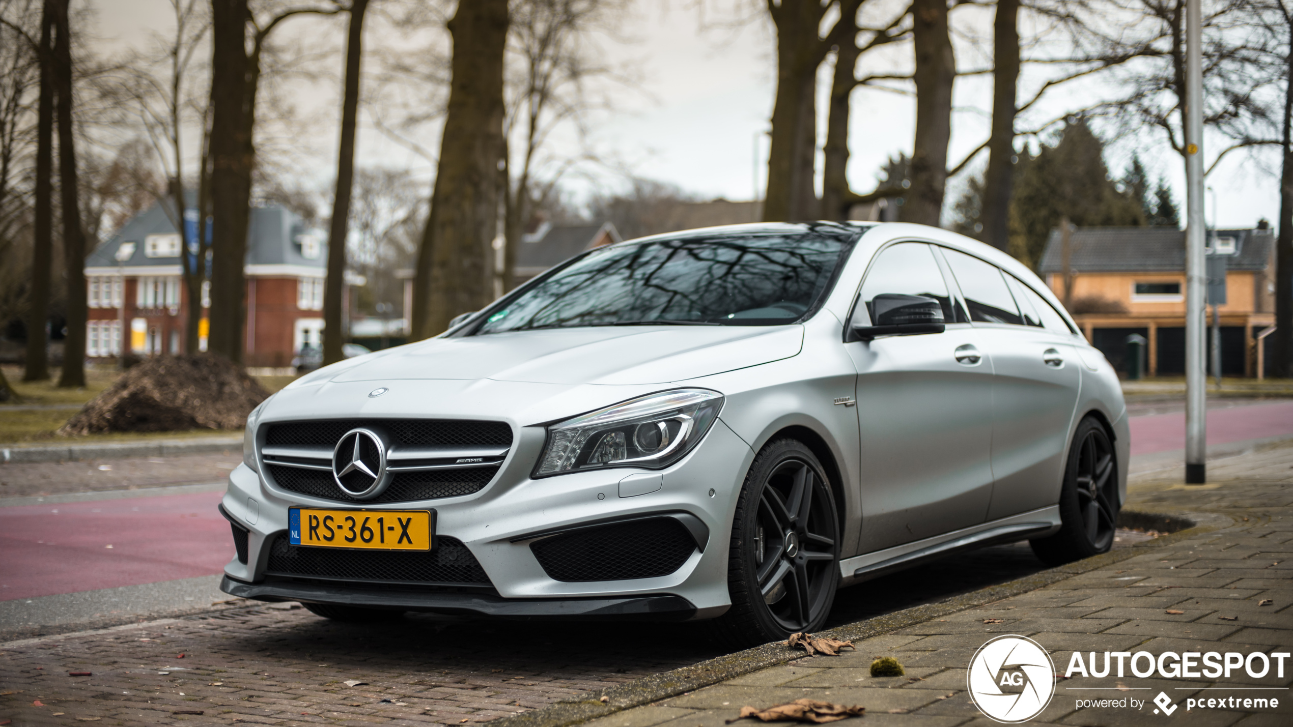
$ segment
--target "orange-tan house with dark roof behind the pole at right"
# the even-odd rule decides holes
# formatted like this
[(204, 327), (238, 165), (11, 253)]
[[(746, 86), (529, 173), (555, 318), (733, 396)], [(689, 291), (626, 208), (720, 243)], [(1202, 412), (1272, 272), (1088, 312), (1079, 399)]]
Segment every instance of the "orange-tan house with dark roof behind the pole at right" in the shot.
[[(1212, 230), (1209, 251), (1226, 257), (1226, 303), (1219, 306), (1223, 376), (1257, 374), (1257, 334), (1275, 324), (1275, 235)], [(1059, 230), (1038, 271), (1065, 301)], [(1173, 227), (1080, 227), (1069, 236), (1072, 292), (1065, 305), (1087, 341), (1126, 371), (1126, 337), (1147, 341), (1149, 376), (1186, 371), (1186, 232)], [(1208, 346), (1212, 345), (1208, 307)], [(1266, 362), (1267, 364), (1270, 362)], [(1209, 364), (1210, 365), (1210, 364)]]

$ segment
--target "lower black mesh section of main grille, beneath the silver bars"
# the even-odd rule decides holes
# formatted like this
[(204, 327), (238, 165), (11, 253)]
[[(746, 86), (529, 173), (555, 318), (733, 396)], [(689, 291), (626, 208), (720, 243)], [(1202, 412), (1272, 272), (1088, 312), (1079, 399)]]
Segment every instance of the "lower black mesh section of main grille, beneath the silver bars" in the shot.
[(480, 492), (498, 473), (498, 467), (397, 473), (392, 478), (390, 486), (381, 491), (381, 495), (371, 500), (359, 500), (341, 491), (336, 486), (336, 480), (332, 479), (331, 471), (303, 470), (283, 465), (266, 465), (266, 469), (274, 484), (283, 489), (343, 502), (412, 502), (437, 497), (458, 497)]

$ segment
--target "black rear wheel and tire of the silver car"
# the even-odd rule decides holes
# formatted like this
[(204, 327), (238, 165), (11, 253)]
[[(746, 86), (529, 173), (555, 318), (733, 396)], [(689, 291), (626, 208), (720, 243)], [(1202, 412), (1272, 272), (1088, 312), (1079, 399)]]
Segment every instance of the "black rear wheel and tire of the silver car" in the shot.
[(1108, 433), (1095, 418), (1084, 418), (1073, 434), (1064, 467), (1059, 532), (1031, 541), (1042, 563), (1071, 563), (1107, 553), (1113, 546), (1121, 507), (1117, 465)]

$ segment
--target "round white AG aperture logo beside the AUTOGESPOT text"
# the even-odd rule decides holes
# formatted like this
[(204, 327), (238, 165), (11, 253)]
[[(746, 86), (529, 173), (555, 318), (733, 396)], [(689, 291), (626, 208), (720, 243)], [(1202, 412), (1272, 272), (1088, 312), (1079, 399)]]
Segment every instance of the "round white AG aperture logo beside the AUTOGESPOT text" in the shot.
[(989, 719), (1012, 724), (1041, 714), (1055, 696), (1055, 664), (1033, 639), (1014, 634), (979, 647), (970, 660), (970, 699)]

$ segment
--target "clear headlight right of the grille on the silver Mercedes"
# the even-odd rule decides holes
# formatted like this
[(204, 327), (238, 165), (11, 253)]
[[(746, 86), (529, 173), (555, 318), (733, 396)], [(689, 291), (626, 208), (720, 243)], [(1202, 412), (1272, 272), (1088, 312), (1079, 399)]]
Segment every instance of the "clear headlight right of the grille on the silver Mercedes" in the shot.
[(599, 467), (658, 470), (683, 458), (723, 408), (707, 389), (648, 394), (548, 427), (534, 476)]

